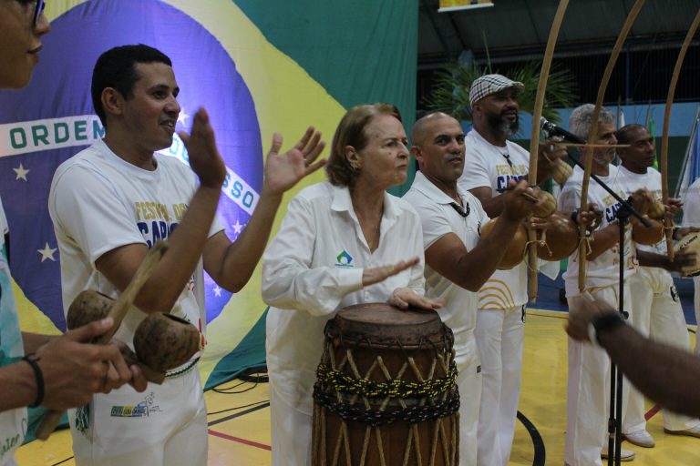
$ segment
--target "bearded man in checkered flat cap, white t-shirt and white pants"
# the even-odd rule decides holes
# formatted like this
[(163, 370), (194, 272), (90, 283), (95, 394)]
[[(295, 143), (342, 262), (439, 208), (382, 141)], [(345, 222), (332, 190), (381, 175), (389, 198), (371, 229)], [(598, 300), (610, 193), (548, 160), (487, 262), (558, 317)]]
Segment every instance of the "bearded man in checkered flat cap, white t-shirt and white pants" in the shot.
[[(499, 190), (528, 175), (529, 153), (508, 140), (518, 131), (516, 96), (523, 87), (506, 76), (486, 75), (469, 89), (474, 128), (465, 138), (464, 173), (458, 183), (479, 198), (490, 218), (503, 209)], [(550, 159), (554, 160), (552, 154)], [(551, 162), (547, 164), (538, 168), (544, 177), (551, 173)], [(527, 266), (521, 262), (510, 270), (497, 270), (479, 290), (475, 332), (483, 381), (479, 465), (506, 465), (510, 457), (520, 395), (527, 281)]]

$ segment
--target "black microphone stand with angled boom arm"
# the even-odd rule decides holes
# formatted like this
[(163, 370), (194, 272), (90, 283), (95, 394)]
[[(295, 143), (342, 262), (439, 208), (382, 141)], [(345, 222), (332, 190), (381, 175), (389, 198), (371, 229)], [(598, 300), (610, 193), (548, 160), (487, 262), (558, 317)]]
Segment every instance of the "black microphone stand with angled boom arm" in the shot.
[[(553, 125), (551, 125), (550, 122), (548, 121), (543, 121), (542, 122), (542, 128), (548, 135), (552, 136), (552, 133), (554, 133)], [(558, 128), (557, 128), (558, 129)], [(566, 139), (571, 140), (571, 142), (579, 143), (579, 144), (586, 144), (586, 141), (583, 140), (581, 137), (576, 137), (574, 135), (571, 135), (570, 133), (566, 134), (561, 134), (559, 132), (557, 136), (562, 136)], [(567, 151), (567, 157), (578, 167), (582, 167), (583, 171), (585, 172), (585, 167), (582, 166), (581, 162), (577, 160), (575, 157), (572, 157), (571, 154)], [(618, 299), (618, 312), (623, 315), (623, 319), (627, 319), (628, 315), (624, 311), (624, 230), (627, 226), (627, 224), (630, 221), (630, 216), (633, 215), (634, 217), (638, 218), (640, 222), (642, 222), (643, 226), (646, 228), (651, 228), (651, 223), (649, 223), (649, 220), (646, 218), (643, 218), (641, 215), (639, 215), (639, 212), (634, 210), (632, 207), (632, 204), (629, 202), (629, 200), (624, 200), (623, 198), (620, 198), (620, 196), (612, 190), (611, 187), (609, 187), (600, 177), (597, 175), (591, 174), (591, 177), (595, 180), (596, 183), (603, 189), (605, 189), (608, 194), (612, 196), (612, 198), (615, 198), (620, 204), (621, 207), (617, 209), (617, 212), (615, 212), (615, 217), (617, 218), (619, 222), (619, 229), (620, 229), (620, 238), (619, 238), (619, 246), (618, 246), (618, 255), (619, 255), (619, 262), (620, 262), (620, 277), (619, 277), (619, 296), (620, 299)], [(615, 364), (610, 362), (610, 418), (608, 419), (608, 465), (612, 466), (613, 464), (613, 459), (614, 459), (614, 464), (615, 466), (620, 466), (620, 463), (622, 461), (621, 457), (621, 451), (622, 451), (622, 444), (623, 444), (623, 372), (622, 370), (617, 370), (617, 367)]]

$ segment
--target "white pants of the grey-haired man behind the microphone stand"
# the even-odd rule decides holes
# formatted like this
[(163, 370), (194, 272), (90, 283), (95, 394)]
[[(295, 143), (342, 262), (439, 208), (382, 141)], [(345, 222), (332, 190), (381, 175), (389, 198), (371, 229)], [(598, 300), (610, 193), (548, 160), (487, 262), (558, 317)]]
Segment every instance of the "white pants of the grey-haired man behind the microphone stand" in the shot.
[[(591, 294), (617, 309), (618, 287), (595, 289)], [(629, 287), (625, 284), (624, 310), (629, 312)], [(571, 312), (571, 298), (569, 298)], [(566, 397), (565, 461), (569, 466), (602, 466), (601, 451), (607, 446), (610, 417), (610, 358), (604, 349), (569, 338), (569, 377)], [(623, 383), (623, 419), (629, 398)]]

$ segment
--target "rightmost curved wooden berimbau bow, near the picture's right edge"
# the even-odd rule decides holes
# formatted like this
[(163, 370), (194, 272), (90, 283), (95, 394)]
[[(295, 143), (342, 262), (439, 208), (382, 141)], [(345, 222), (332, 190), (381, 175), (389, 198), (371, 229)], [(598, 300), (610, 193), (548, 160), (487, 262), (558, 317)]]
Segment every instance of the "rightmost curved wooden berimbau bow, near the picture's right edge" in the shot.
[[(693, 24), (688, 29), (688, 34), (685, 35), (685, 41), (681, 46), (681, 51), (678, 53), (678, 58), (675, 60), (674, 74), (671, 76), (671, 85), (668, 87), (668, 96), (666, 96), (666, 107), (664, 111), (664, 132), (661, 137), (661, 195), (664, 205), (668, 204), (668, 126), (671, 120), (671, 107), (674, 105), (675, 86), (678, 84), (678, 76), (681, 74), (685, 52), (688, 50), (697, 26), (700, 24), (700, 9), (695, 14)], [(654, 137), (654, 135), (652, 135)], [(666, 250), (668, 259), (674, 261), (674, 218), (670, 214), (664, 215), (664, 230), (666, 232)]]

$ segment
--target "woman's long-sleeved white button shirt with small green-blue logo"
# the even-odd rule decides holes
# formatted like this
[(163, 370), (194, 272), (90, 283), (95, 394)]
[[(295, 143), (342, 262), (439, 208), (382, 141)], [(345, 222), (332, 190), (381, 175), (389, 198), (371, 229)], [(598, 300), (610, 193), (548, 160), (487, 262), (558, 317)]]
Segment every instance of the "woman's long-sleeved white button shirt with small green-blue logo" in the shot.
[[(370, 253), (349, 190), (324, 182), (292, 199), (262, 256), (262, 299), (271, 306), (265, 341), (270, 383), (297, 410), (312, 412), (328, 319), (347, 306), (386, 302), (396, 288), (423, 295), (423, 234), (416, 211), (385, 194), (380, 236)], [(416, 266), (362, 287), (364, 268), (416, 256)]]

